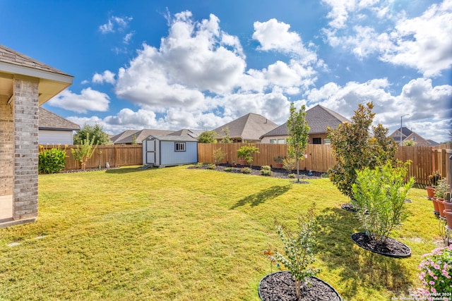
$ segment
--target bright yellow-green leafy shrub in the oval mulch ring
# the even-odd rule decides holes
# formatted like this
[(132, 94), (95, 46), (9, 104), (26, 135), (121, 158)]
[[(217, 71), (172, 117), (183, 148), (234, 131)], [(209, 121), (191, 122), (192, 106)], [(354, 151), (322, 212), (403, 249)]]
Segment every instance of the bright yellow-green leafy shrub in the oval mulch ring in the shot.
[(352, 185), (352, 204), (370, 239), (385, 242), (389, 233), (408, 218), (405, 199), (415, 183), (414, 178), (404, 183), (409, 164), (408, 161), (393, 168), (388, 163), (357, 171), (356, 183)]

